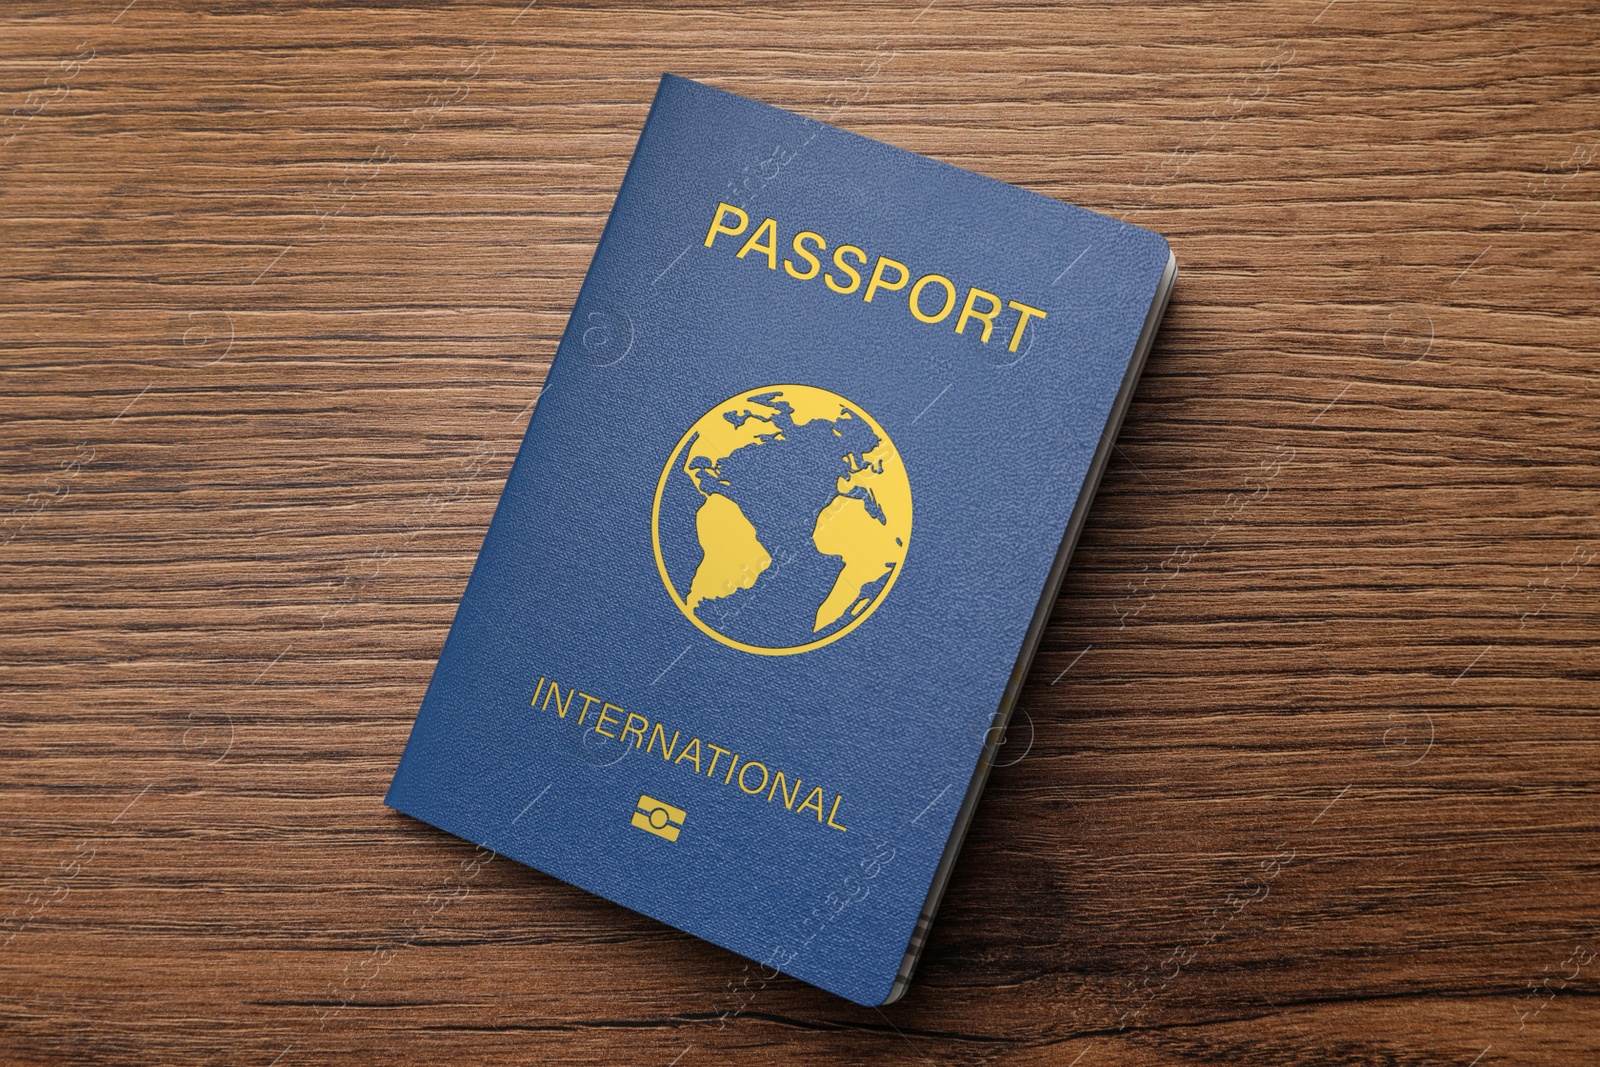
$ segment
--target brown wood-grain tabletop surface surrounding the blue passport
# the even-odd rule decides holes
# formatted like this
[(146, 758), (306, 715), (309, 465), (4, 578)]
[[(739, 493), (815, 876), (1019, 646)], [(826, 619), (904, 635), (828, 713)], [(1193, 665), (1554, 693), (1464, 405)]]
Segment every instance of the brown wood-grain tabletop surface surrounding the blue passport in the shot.
[[(1600, 8), (11, 0), (0, 1061), (1600, 1062)], [(381, 805), (661, 70), (1182, 275), (910, 995)]]

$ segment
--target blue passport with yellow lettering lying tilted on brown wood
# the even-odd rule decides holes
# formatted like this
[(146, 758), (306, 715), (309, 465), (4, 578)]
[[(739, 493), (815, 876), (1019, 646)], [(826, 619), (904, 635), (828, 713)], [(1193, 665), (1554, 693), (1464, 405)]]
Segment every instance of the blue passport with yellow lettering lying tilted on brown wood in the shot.
[(664, 77), (387, 803), (898, 995), (1168, 262)]

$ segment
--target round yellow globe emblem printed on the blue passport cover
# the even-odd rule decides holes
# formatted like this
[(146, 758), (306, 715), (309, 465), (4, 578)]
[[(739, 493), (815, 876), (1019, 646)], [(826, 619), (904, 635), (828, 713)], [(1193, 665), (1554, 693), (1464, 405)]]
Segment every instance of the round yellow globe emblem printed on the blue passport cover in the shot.
[(690, 622), (731, 648), (789, 656), (837, 641), (888, 597), (910, 545), (910, 482), (861, 406), (766, 386), (678, 440), (650, 533)]

